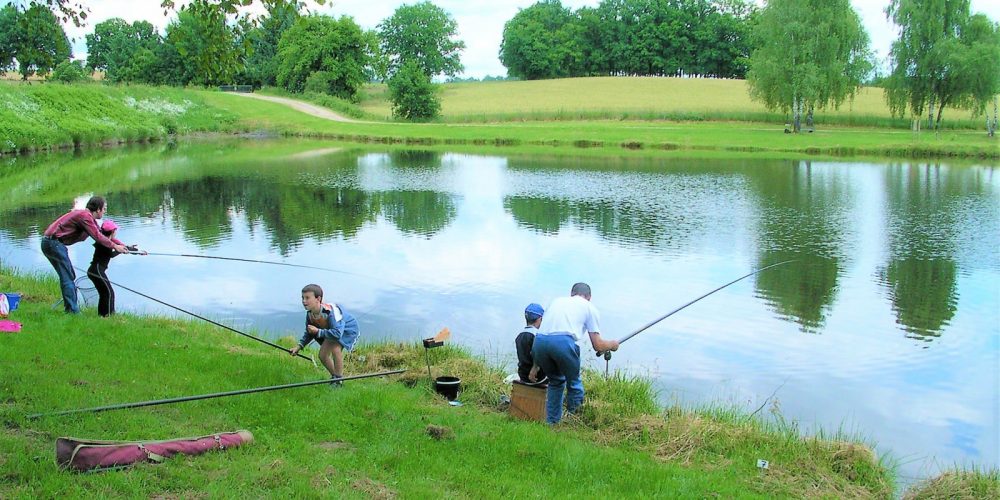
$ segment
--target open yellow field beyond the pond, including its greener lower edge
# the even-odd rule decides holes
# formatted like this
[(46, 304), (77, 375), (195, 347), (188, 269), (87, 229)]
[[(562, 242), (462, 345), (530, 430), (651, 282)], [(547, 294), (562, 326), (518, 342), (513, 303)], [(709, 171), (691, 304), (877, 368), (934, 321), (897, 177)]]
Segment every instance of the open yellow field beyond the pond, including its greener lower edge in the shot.
[[(660, 77), (565, 78), (538, 81), (450, 83), (441, 86), (447, 122), (543, 119), (669, 119), (759, 121), (781, 125), (781, 113), (750, 99), (744, 80)], [(384, 85), (365, 88), (365, 111), (389, 117)], [(945, 109), (949, 128), (981, 128), (966, 110)], [(817, 124), (908, 128), (893, 118), (883, 90), (861, 89), (839, 109), (817, 110)]]

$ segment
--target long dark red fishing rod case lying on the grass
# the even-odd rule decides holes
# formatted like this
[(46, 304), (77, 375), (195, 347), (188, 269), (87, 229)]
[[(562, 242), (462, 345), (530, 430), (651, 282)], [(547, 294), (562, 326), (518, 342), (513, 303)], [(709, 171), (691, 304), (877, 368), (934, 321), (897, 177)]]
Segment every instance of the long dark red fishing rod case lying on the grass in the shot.
[(119, 469), (140, 462), (160, 463), (174, 455), (200, 455), (253, 442), (250, 431), (164, 441), (99, 441), (61, 437), (56, 440), (56, 463), (78, 472)]

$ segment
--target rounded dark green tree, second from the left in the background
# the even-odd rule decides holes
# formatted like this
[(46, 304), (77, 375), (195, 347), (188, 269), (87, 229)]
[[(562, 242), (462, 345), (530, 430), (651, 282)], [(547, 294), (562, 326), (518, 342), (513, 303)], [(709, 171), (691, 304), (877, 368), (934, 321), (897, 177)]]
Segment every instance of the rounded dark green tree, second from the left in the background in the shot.
[(152, 24), (119, 17), (96, 24), (86, 40), (87, 68), (111, 82), (149, 81), (150, 55), (162, 43)]

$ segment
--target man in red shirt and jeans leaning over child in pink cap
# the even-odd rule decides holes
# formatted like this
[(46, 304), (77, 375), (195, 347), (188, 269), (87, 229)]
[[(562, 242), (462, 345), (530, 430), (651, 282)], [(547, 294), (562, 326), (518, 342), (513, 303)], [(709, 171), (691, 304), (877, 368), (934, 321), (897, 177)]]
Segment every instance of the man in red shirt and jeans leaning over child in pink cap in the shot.
[(42, 234), (42, 253), (49, 259), (52, 267), (59, 275), (59, 286), (62, 289), (63, 305), (67, 313), (80, 312), (76, 301), (76, 270), (69, 260), (66, 247), (79, 243), (90, 236), (97, 243), (118, 253), (128, 252), (128, 248), (115, 243), (101, 234), (95, 219), (104, 217), (107, 203), (100, 196), (92, 196), (87, 200), (87, 207), (82, 210), (70, 210), (59, 217)]

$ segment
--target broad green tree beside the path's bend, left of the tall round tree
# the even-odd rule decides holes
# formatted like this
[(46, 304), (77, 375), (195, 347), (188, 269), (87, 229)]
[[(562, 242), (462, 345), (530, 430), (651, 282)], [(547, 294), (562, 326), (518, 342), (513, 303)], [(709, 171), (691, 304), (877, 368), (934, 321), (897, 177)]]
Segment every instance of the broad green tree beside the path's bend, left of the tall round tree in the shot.
[(277, 83), (302, 92), (313, 73), (323, 72), (327, 93), (355, 99), (365, 83), (365, 48), (361, 28), (350, 17), (300, 17), (278, 43)]

